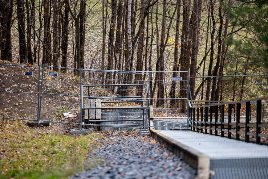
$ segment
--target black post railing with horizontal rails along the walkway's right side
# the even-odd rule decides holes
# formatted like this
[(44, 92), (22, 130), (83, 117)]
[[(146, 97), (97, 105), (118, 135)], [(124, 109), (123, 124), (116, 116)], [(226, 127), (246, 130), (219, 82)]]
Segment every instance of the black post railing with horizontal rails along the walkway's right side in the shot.
[[(190, 127), (193, 131), (203, 133), (203, 129), (205, 130), (205, 134), (212, 135), (214, 130), (214, 135), (218, 135), (218, 131), (220, 131), (221, 137), (227, 137), (231, 139), (231, 133), (235, 133), (236, 140), (240, 140), (239, 134), (245, 134), (245, 142), (250, 142), (249, 136), (256, 136), (256, 144), (260, 144), (260, 137), (268, 137), (267, 134), (261, 134), (261, 127), (268, 128), (268, 125), (261, 124), (262, 122), (262, 100), (268, 100), (266, 98), (257, 98), (251, 100), (244, 100), (238, 102), (223, 102), (221, 104), (208, 104), (208, 105), (201, 105), (201, 106), (192, 106), (190, 102)], [(256, 123), (250, 123), (250, 102), (257, 101), (257, 116), (256, 116)], [(241, 114), (241, 104), (246, 104), (246, 121), (245, 123), (240, 122), (240, 114)], [(237, 105), (235, 110), (236, 114), (236, 123), (231, 122), (231, 115), (232, 115), (232, 105)], [(225, 105), (228, 105), (228, 122), (224, 122), (225, 115), (224, 109)], [(220, 118), (218, 118), (218, 107), (220, 107)], [(200, 119), (199, 119), (199, 109), (200, 109)], [(214, 110), (214, 112), (213, 112)], [(205, 115), (205, 119), (203, 119), (203, 115)], [(213, 121), (213, 115), (215, 115), (215, 121)], [(220, 119), (220, 122), (218, 121)], [(213, 127), (214, 125), (214, 127)], [(225, 129), (224, 126), (227, 126), (228, 129)], [(235, 126), (236, 131), (231, 131), (232, 126)], [(240, 127), (245, 127), (245, 132), (240, 131)], [(250, 127), (256, 128), (256, 133), (250, 132)], [(224, 132), (227, 132), (227, 135), (224, 135)]]

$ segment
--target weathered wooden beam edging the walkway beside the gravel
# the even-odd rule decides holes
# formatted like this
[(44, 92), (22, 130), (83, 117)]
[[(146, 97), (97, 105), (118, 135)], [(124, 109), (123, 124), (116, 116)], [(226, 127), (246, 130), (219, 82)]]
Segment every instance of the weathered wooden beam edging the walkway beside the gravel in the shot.
[(150, 129), (151, 135), (154, 139), (158, 140), (160, 144), (164, 144), (175, 155), (191, 165), (197, 170), (197, 178), (209, 179), (210, 158), (209, 156), (198, 152), (180, 142), (162, 134), (160, 131)]

